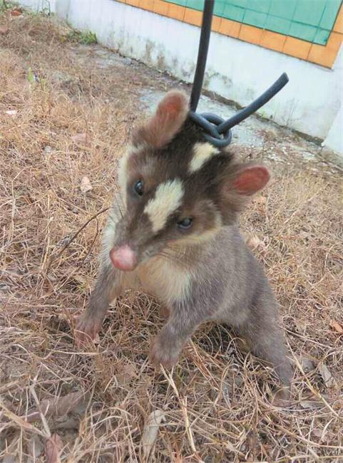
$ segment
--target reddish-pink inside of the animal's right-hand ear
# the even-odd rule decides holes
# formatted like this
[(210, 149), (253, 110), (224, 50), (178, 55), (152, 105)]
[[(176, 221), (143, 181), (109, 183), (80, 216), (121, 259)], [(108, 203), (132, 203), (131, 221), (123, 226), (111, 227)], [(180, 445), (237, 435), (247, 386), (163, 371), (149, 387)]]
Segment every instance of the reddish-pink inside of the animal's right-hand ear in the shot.
[(270, 180), (270, 173), (267, 167), (261, 165), (251, 166), (238, 172), (232, 187), (237, 193), (250, 196), (265, 187), (268, 180)]

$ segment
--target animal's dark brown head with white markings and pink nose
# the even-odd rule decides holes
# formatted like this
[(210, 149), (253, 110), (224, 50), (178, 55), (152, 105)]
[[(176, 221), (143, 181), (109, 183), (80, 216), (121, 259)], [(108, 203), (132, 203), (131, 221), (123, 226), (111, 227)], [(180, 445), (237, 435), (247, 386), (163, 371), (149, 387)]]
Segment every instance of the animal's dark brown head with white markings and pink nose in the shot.
[(188, 98), (170, 92), (133, 132), (118, 172), (125, 211), (110, 245), (118, 269), (213, 239), (270, 178), (266, 167), (239, 165), (207, 142), (188, 113)]

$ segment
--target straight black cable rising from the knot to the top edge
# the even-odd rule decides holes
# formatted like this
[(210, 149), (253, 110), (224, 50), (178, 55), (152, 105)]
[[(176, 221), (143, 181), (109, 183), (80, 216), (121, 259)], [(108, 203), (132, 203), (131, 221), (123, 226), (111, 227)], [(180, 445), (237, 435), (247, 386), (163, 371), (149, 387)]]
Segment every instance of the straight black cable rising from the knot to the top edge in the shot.
[(215, 0), (205, 0), (203, 12), (203, 24), (201, 26), (199, 51), (197, 67), (193, 80), (192, 93), (190, 94), (190, 110), (196, 111), (200, 98), (201, 89), (203, 88), (203, 80), (205, 74), (206, 60), (208, 58), (208, 45), (210, 43), (213, 7)]

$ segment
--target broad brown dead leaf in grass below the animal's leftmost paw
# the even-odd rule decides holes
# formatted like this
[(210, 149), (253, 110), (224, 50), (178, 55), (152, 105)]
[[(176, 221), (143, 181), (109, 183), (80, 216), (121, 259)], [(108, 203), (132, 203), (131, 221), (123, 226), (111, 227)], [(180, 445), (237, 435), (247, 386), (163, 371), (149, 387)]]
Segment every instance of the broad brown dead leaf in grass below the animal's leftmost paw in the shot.
[[(69, 412), (77, 411), (81, 404), (85, 404), (88, 397), (83, 395), (83, 392), (71, 392), (63, 397), (53, 397), (51, 400), (41, 401), (41, 411), (46, 418), (61, 417), (67, 415)], [(40, 419), (39, 411), (31, 412), (26, 421), (31, 423)]]

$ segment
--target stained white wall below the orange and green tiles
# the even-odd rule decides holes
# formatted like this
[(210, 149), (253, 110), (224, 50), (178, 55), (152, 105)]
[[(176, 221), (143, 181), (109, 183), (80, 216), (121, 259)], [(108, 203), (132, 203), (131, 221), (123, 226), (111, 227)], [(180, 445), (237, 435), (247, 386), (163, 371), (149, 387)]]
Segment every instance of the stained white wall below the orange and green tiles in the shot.
[[(21, 0), (41, 9), (47, 0)], [(96, 33), (124, 56), (191, 82), (200, 29), (114, 0), (50, 0), (71, 26)], [(343, 156), (343, 50), (333, 69), (212, 33), (204, 86), (244, 106), (286, 71), (290, 83), (261, 110), (280, 125), (319, 137)]]

